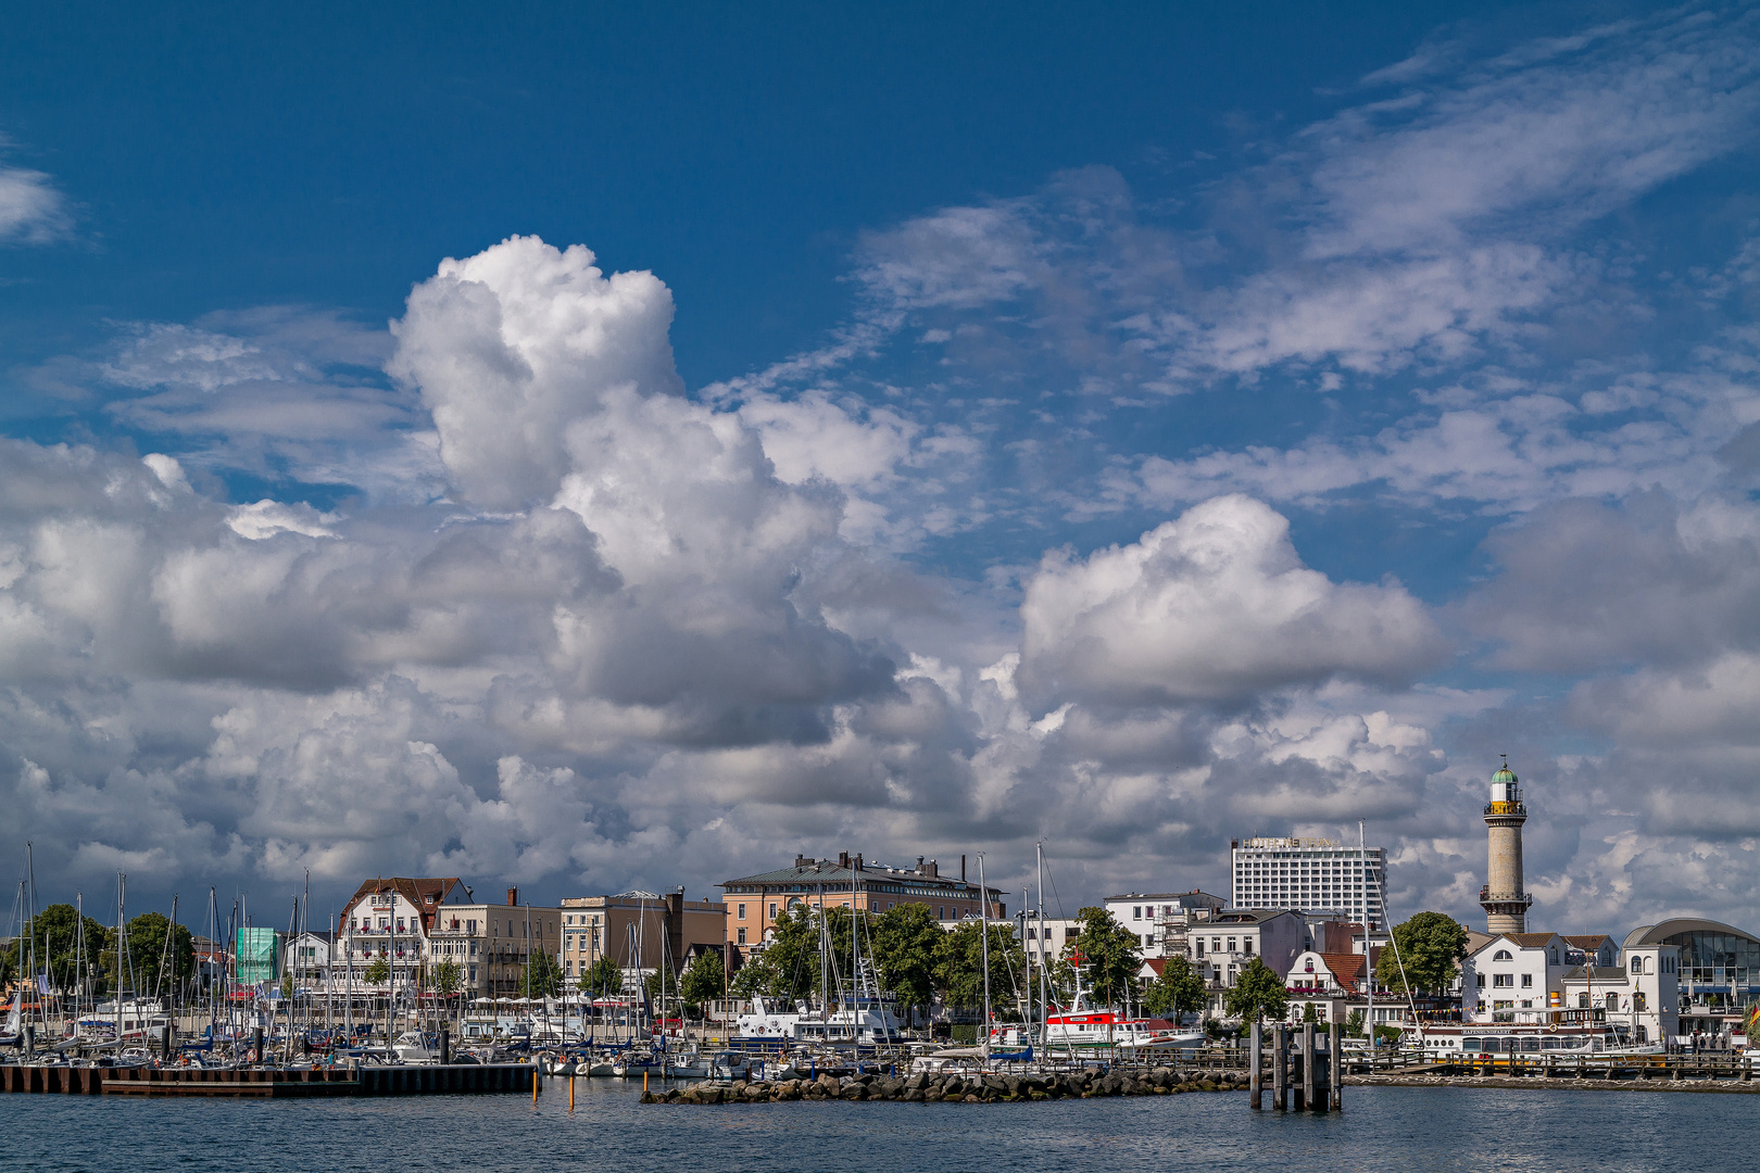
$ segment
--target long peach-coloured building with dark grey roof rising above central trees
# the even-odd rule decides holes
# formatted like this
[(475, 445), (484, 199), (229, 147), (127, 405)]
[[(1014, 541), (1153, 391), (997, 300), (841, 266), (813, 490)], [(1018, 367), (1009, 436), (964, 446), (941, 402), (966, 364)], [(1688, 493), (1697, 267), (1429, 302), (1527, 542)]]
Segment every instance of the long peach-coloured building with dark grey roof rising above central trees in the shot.
[[(966, 881), (964, 858), (959, 871), (959, 879), (954, 879), (942, 876), (940, 865), (922, 856), (917, 856), (915, 867), (885, 867), (840, 851), (836, 860), (797, 855), (794, 867), (729, 879), (718, 885), (727, 904), (727, 957), (730, 962), (750, 957), (762, 948), (771, 927), (801, 906), (884, 913), (898, 904), (924, 904), (935, 909), (943, 927), (957, 927), (980, 913), (979, 886)], [(1008, 920), (1001, 895), (1000, 888), (989, 890), (991, 920)]]

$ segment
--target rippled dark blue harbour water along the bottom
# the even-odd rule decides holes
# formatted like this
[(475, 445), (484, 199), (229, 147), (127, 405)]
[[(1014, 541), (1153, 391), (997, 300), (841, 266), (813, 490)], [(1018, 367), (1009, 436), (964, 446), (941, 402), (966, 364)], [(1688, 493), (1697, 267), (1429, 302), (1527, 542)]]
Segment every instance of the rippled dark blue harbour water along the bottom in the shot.
[(1156, 1168), (1654, 1173), (1744, 1169), (1760, 1096), (1345, 1089), (1343, 1115), (1253, 1113), (1244, 1092), (1040, 1104), (641, 1104), (639, 1083), (521, 1096), (197, 1101), (0, 1096), (0, 1169)]

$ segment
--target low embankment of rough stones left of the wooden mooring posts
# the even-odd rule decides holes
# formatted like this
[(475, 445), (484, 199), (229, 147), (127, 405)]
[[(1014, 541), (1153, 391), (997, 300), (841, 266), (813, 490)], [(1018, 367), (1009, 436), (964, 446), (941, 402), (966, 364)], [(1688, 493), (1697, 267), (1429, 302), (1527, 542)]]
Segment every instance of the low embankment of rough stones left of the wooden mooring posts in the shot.
[[(788, 1075), (788, 1073), (783, 1073)], [(917, 1073), (820, 1075), (810, 1078), (702, 1082), (665, 1092), (642, 1092), (644, 1104), (774, 1104), (794, 1099), (891, 1099), (910, 1104), (1001, 1104), (1040, 1099), (1093, 1099), (1100, 1096), (1177, 1096), (1181, 1092), (1246, 1090), (1244, 1071), (1183, 1071), (1176, 1067), (1119, 1067), (1111, 1071), (1056, 1071), (1044, 1075)]]

